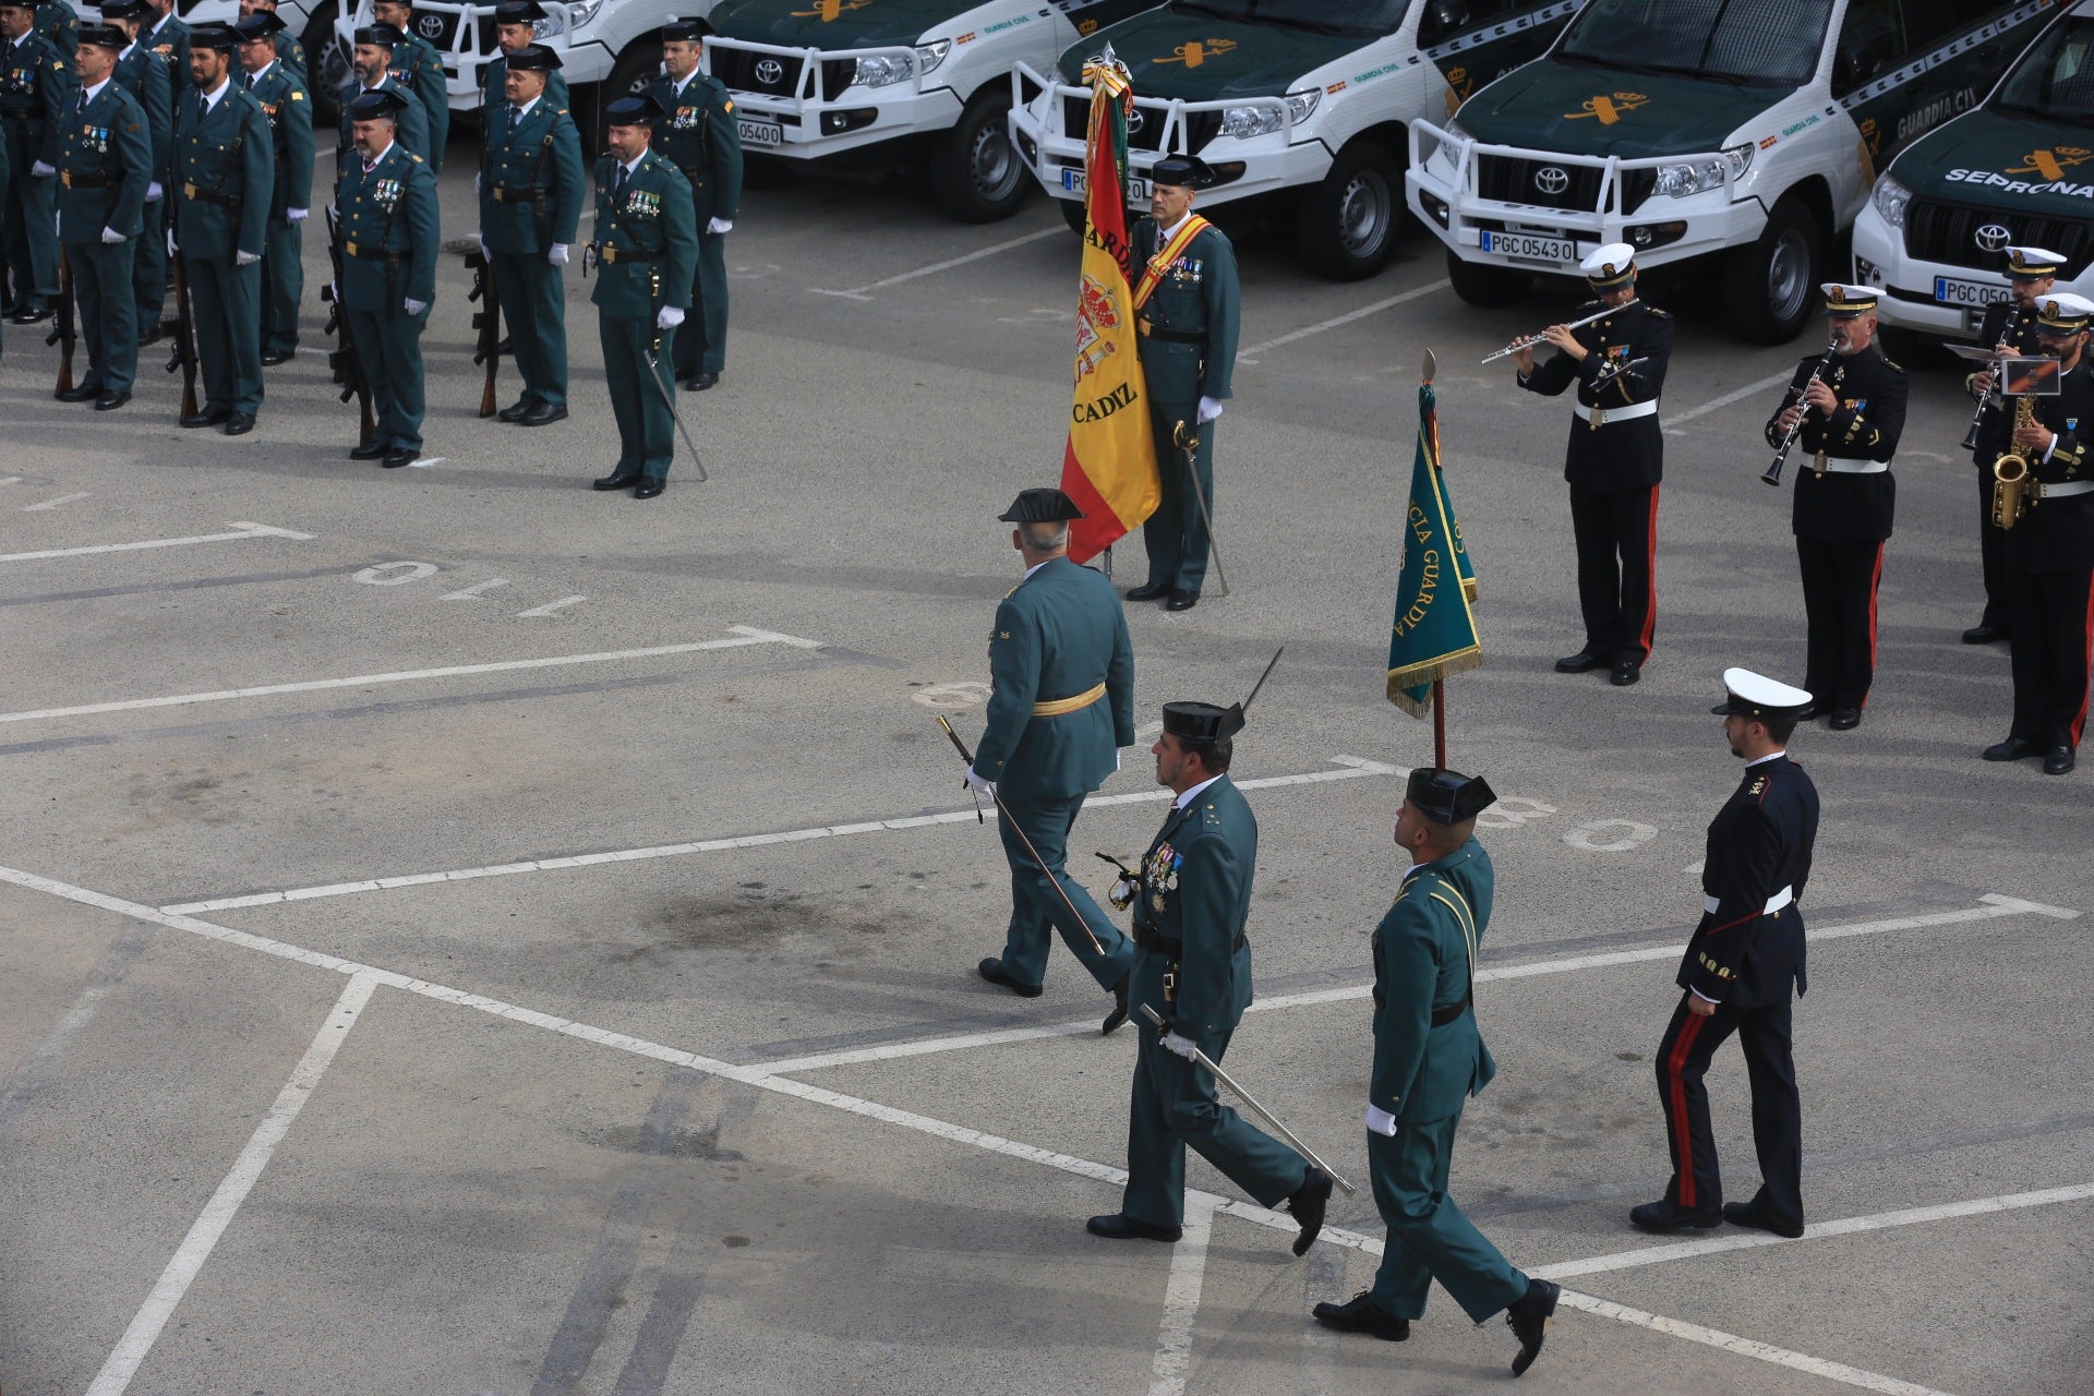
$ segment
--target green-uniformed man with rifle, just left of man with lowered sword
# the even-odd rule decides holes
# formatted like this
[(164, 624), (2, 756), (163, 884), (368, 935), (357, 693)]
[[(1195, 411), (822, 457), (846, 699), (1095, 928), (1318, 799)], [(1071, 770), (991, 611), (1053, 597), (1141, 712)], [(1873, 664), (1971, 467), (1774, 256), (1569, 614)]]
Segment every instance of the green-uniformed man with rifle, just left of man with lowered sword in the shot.
[(559, 54), (532, 46), (503, 65), (507, 100), (480, 109), (480, 245), (509, 324), (524, 396), (503, 421), (544, 427), (567, 416), (567, 249), (582, 220), (582, 134), (547, 96)]

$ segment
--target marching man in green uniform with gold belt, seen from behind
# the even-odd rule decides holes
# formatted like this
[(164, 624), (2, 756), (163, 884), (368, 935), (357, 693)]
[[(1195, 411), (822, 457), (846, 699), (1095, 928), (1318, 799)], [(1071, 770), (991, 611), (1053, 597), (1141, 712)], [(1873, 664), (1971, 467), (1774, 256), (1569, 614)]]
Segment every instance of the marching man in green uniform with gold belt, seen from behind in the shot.
[[(1062, 944), (1116, 996), (1106, 1019), (1112, 1032), (1127, 1021), (1135, 944), (1064, 864), (1085, 795), (1120, 768), (1118, 749), (1135, 745), (1135, 647), (1112, 582), (1068, 561), (1068, 523), (1083, 511), (1066, 494), (1026, 490), (997, 517), (1018, 525), (1011, 546), (1026, 559), (1026, 578), (1003, 596), (988, 632), (995, 693), (967, 770), (972, 789), (997, 793), (1003, 816), (997, 831), (1011, 864), (1003, 954), (982, 961), (978, 973), (1020, 998), (1037, 998), (1049, 931), (1062, 931)], [(1028, 839), (1047, 873), (1026, 852)]]

